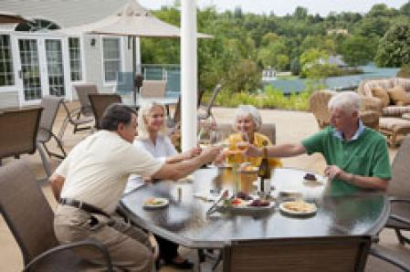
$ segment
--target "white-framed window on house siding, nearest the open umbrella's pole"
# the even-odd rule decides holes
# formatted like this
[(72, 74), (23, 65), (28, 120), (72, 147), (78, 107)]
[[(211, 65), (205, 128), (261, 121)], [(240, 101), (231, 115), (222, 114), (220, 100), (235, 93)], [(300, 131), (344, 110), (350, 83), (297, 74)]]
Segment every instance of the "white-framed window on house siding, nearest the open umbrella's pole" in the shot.
[(121, 71), (121, 45), (118, 37), (102, 38), (102, 61), (104, 63), (104, 81), (115, 81)]

